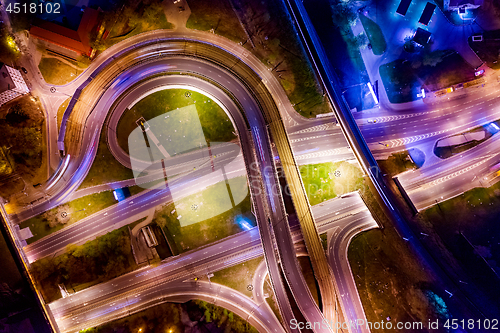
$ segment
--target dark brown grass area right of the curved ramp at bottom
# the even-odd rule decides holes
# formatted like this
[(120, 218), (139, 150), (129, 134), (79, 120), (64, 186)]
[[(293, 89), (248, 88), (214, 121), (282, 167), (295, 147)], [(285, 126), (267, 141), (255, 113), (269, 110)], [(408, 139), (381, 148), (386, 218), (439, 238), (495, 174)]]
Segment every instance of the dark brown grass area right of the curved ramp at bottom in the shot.
[[(349, 263), (369, 322), (436, 320), (431, 278), (393, 229), (371, 230), (349, 246)], [(440, 317), (439, 319), (443, 319)]]

